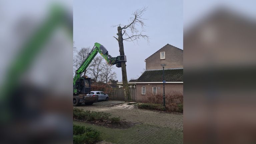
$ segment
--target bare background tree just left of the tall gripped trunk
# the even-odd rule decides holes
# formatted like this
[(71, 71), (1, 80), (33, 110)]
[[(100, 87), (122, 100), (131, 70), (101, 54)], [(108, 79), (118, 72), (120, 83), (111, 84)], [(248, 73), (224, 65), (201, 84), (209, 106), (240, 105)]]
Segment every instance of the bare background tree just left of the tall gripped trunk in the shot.
[(107, 63), (104, 63), (102, 68), (102, 74), (100, 76), (101, 82), (107, 83), (109, 79), (116, 79), (116, 72), (112, 71), (115, 67), (109, 66)]

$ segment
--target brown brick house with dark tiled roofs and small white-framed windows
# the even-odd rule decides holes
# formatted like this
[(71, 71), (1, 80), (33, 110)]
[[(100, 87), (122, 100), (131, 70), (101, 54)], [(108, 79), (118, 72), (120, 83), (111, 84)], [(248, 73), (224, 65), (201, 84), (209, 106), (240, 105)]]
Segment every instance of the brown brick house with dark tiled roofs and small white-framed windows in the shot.
[(146, 70), (136, 80), (136, 101), (146, 95), (163, 94), (163, 68), (165, 67), (165, 94), (176, 91), (183, 94), (183, 50), (170, 44), (165, 45), (146, 58)]

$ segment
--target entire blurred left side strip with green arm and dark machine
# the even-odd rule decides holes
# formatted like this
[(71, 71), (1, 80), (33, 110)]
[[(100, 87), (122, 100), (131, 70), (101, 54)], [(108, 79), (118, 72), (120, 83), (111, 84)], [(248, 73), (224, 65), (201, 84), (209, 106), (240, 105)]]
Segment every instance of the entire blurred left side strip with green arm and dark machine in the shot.
[(0, 143), (72, 143), (72, 1), (0, 5)]

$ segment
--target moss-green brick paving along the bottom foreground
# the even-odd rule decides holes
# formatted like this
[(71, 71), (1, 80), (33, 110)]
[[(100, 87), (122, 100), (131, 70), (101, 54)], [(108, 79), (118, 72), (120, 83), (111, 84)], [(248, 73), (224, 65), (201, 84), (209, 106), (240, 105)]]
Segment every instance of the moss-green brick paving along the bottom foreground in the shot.
[(74, 124), (97, 129), (103, 140), (116, 144), (183, 144), (183, 132), (176, 129), (139, 124), (122, 130), (76, 121)]

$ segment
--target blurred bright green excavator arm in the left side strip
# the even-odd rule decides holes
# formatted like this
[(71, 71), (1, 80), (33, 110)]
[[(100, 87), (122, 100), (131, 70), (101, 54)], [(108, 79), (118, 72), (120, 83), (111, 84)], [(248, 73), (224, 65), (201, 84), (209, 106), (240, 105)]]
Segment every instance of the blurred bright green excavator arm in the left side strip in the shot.
[(44, 45), (59, 27), (67, 31), (73, 40), (73, 17), (59, 4), (52, 5), (46, 20), (39, 26), (31, 38), (19, 49), (18, 55), (7, 70), (7, 75), (1, 87), (0, 105), (1, 121), (6, 122), (12, 117), (10, 112), (9, 96), (19, 86), (21, 75), (31, 66), (35, 57), (44, 48)]

